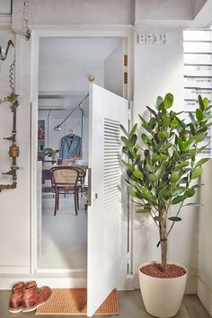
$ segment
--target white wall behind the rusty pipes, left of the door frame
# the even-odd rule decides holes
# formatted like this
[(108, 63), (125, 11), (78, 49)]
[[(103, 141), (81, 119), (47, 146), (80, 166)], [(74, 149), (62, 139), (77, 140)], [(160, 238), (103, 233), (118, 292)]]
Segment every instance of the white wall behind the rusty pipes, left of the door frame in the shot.
[[(7, 43), (12, 39), (12, 31), (0, 30), (0, 43)], [(22, 43), (22, 52), (16, 52), (19, 60), (16, 68), (21, 72), (22, 67), (29, 68), (26, 58), (26, 42)], [(8, 72), (13, 63), (14, 50), (10, 49), (4, 62), (0, 61), (0, 96), (4, 98), (11, 93), (9, 88)], [(24, 60), (24, 65), (22, 61)], [(17, 75), (17, 74), (16, 74)], [(29, 72), (22, 77), (24, 87), (19, 76), (16, 76), (17, 91), (20, 95), (20, 106), (17, 109), (17, 145), (20, 146), (20, 156), (17, 159), (21, 169), (17, 172), (18, 185), (15, 190), (4, 190), (0, 193), (0, 273), (29, 272), (30, 270), (30, 104), (29, 102)], [(28, 100), (27, 100), (28, 98)], [(11, 177), (2, 176), (2, 172), (10, 170), (11, 160), (8, 150), (11, 143), (3, 137), (12, 136), (13, 117), (8, 106), (0, 105), (0, 182), (9, 183)]]

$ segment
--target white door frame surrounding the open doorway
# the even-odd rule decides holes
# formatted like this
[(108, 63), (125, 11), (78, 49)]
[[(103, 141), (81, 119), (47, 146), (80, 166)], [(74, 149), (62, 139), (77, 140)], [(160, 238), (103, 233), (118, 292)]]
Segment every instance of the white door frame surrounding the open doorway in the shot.
[[(133, 26), (100, 26), (100, 25), (78, 25), (78, 26), (31, 26), (31, 274), (49, 273), (52, 269), (38, 269), (38, 230), (37, 230), (37, 123), (38, 123), (38, 95), (39, 95), (39, 49), (40, 38), (122, 38), (127, 40), (128, 49), (128, 92), (125, 96), (132, 100), (133, 89)], [(132, 260), (132, 219), (128, 216), (128, 257)], [(70, 272), (81, 272), (84, 269), (58, 269), (55, 273), (70, 276)], [(128, 273), (132, 274), (132, 261), (128, 265)], [(68, 275), (69, 274), (69, 275)]]

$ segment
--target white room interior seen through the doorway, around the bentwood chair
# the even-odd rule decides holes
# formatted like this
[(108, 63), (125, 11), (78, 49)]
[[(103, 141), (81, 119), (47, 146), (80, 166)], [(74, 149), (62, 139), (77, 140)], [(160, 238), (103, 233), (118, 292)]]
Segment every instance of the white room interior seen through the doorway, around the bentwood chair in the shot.
[[(123, 96), (123, 42), (119, 38), (40, 40), (39, 269), (86, 271), (89, 83)], [(79, 208), (75, 209), (75, 190), (60, 189), (59, 207), (55, 210), (52, 168), (56, 167), (81, 169), (78, 176), (81, 187), (77, 189)]]

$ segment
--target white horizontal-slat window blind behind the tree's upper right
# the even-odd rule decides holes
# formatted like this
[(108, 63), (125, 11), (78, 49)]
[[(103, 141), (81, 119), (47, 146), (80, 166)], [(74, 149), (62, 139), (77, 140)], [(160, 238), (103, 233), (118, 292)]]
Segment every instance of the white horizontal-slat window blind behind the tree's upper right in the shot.
[[(212, 31), (186, 30), (183, 31), (184, 49), (184, 102), (186, 120), (190, 121), (189, 113), (194, 113), (199, 107), (198, 95), (212, 100)], [(211, 128), (199, 147), (209, 143), (201, 153), (203, 156), (212, 155)]]

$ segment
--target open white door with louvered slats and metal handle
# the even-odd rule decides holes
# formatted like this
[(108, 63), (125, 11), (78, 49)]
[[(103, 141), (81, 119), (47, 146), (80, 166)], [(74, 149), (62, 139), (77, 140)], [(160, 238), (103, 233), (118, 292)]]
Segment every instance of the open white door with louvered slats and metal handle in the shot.
[(87, 315), (92, 316), (127, 273), (128, 196), (121, 165), (120, 128), (128, 128), (128, 101), (90, 87)]

